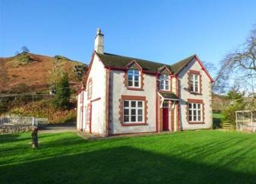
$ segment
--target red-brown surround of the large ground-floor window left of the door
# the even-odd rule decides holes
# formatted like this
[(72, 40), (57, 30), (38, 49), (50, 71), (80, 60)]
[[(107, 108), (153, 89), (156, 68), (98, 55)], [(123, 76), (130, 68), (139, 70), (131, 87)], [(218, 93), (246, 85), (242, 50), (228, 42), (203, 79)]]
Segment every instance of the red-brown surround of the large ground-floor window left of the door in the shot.
[[(123, 122), (123, 100), (141, 100), (144, 101), (144, 122), (134, 122), (134, 123), (124, 123)], [(130, 96), (122, 95), (122, 98), (119, 99), (119, 121), (123, 126), (138, 126), (138, 125), (147, 125), (147, 100), (146, 97), (142, 96)]]

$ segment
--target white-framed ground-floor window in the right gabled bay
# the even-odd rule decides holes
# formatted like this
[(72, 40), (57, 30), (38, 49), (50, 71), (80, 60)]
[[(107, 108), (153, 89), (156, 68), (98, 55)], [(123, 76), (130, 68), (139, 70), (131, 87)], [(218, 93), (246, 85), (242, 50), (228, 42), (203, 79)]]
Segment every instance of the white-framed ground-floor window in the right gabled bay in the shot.
[[(191, 104), (191, 107), (190, 107), (190, 104)], [(196, 105), (196, 108), (194, 105)], [(189, 113), (188, 113), (189, 121), (203, 122), (203, 103), (189, 103), (188, 106), (189, 106)], [(191, 119), (190, 119), (190, 116), (191, 116)], [(196, 116), (196, 119), (194, 116)], [(199, 119), (199, 116), (200, 116), (200, 119)]]

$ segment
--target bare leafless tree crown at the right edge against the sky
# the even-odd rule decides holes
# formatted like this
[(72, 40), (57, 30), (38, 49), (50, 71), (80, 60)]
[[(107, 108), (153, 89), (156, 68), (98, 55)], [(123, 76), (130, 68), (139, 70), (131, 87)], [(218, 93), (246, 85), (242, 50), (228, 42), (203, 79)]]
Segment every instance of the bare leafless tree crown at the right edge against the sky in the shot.
[(225, 93), (231, 87), (254, 94), (256, 86), (256, 26), (241, 49), (229, 53), (221, 62), (215, 91)]

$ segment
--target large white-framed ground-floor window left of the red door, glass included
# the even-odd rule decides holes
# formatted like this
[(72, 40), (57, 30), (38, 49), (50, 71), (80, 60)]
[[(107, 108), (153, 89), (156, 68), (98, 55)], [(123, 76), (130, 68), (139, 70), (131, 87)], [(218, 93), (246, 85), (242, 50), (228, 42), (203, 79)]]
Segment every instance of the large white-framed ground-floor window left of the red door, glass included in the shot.
[(144, 101), (123, 100), (123, 122), (144, 122)]

